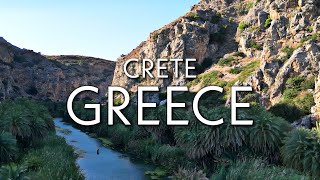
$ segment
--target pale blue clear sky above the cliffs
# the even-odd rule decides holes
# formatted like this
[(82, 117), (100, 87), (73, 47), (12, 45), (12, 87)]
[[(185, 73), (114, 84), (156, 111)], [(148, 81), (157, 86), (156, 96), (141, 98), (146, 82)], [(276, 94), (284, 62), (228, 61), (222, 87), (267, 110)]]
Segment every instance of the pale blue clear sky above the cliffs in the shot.
[(0, 0), (0, 36), (45, 55), (116, 60), (199, 0)]

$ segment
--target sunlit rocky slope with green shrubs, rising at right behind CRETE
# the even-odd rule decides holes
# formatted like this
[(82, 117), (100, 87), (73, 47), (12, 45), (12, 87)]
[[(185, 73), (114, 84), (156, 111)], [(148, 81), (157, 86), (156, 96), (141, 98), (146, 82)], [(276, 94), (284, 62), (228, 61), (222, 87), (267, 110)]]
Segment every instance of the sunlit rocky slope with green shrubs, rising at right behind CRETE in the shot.
[[(319, 115), (319, 15), (318, 0), (202, 0), (121, 56), (113, 85), (133, 92), (139, 84), (184, 85), (184, 74), (140, 81), (123, 76), (122, 66), (130, 58), (196, 58), (198, 73), (206, 71), (188, 83), (195, 91), (204, 85), (251, 85), (266, 108), (312, 101), (315, 106), (303, 108)], [(132, 73), (140, 69), (130, 67)]]

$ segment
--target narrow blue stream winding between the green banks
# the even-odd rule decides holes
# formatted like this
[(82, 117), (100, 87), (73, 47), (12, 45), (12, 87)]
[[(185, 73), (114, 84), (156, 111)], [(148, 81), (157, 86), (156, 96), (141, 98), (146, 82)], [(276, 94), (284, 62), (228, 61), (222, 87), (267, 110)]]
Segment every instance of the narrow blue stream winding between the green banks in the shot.
[[(57, 135), (66, 139), (80, 154), (77, 163), (88, 180), (143, 180), (151, 166), (132, 161), (124, 154), (102, 146), (101, 142), (68, 125), (62, 119), (54, 120), (60, 131)], [(100, 153), (97, 154), (97, 149)]]

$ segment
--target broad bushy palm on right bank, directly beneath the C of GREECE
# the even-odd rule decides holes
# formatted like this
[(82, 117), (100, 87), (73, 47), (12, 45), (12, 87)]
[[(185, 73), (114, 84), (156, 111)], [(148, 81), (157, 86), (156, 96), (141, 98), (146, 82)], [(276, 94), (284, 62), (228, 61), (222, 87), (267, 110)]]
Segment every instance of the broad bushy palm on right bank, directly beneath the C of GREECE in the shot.
[(189, 114), (190, 125), (175, 130), (177, 144), (184, 147), (191, 158), (213, 154), (221, 156), (226, 150), (236, 151), (245, 142), (247, 129), (230, 124), (230, 110), (224, 107), (208, 110), (201, 108), (204, 117), (212, 120), (224, 118), (221, 126), (211, 127), (199, 123)]

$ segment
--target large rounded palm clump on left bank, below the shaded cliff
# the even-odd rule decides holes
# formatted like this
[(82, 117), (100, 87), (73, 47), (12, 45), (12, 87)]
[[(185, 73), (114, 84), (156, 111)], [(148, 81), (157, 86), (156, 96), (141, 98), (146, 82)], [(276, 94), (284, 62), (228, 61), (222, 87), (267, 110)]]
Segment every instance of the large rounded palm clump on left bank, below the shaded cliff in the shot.
[(11, 133), (24, 148), (54, 131), (48, 109), (28, 99), (3, 101), (0, 119), (0, 132)]

